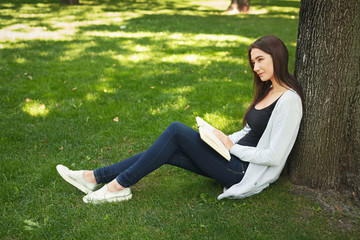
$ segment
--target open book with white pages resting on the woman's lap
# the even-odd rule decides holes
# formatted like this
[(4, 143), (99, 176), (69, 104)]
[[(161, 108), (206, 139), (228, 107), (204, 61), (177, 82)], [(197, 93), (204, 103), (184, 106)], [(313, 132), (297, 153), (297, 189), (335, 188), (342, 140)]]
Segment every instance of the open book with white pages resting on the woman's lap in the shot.
[(210, 147), (217, 151), (221, 156), (226, 160), (230, 161), (230, 152), (221, 142), (221, 140), (213, 133), (213, 126), (205, 122), (202, 118), (196, 117), (196, 122), (199, 127), (200, 137), (206, 142)]

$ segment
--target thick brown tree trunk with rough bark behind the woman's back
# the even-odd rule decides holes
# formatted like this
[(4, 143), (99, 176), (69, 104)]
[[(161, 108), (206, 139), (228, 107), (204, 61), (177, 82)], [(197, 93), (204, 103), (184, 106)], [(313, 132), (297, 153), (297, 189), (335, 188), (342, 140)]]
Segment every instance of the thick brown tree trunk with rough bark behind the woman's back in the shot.
[(290, 178), (311, 188), (360, 192), (360, 1), (302, 0), (295, 75), (305, 112)]

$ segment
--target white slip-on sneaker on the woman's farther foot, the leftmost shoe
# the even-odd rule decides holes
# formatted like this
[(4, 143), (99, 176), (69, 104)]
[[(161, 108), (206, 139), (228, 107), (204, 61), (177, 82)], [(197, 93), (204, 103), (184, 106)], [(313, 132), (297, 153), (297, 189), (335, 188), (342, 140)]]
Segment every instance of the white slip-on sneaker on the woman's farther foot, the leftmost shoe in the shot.
[(82, 177), (82, 174), (84, 172), (82, 170), (71, 171), (69, 170), (69, 168), (63, 165), (57, 165), (56, 170), (65, 181), (78, 188), (85, 194), (92, 193), (99, 186), (99, 184), (85, 181), (85, 179)]

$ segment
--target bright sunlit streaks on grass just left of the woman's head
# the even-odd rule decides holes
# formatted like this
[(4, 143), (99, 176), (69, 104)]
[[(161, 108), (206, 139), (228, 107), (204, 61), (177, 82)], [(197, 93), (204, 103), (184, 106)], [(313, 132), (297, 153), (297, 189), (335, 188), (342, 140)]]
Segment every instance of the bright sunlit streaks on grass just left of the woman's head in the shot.
[[(182, 48), (197, 48), (209, 47), (209, 44), (214, 47), (219, 48), (237, 48), (239, 44), (249, 45), (254, 41), (253, 38), (247, 38), (243, 36), (236, 35), (224, 35), (224, 34), (182, 34), (182, 33), (153, 33), (153, 32), (136, 32), (136, 33), (127, 33), (127, 32), (93, 32), (89, 31), (86, 33), (88, 36), (101, 36), (101, 37), (113, 37), (119, 38), (123, 42), (121, 47), (128, 50), (127, 54), (111, 54), (114, 60), (119, 62), (127, 61), (128, 63), (139, 63), (146, 61), (159, 61), (156, 60), (158, 56), (163, 54), (164, 50), (177, 50)], [(153, 42), (163, 42), (162, 45), (166, 44), (165, 48), (161, 48), (161, 45), (149, 44), (149, 45), (140, 45), (131, 39), (144, 39), (147, 38)], [(133, 53), (133, 54), (131, 54)], [(161, 62), (168, 63), (189, 63), (192, 65), (199, 65), (207, 63), (210, 60), (216, 60), (219, 57), (229, 56), (229, 51), (218, 51), (213, 56), (207, 56), (201, 54), (201, 52), (195, 53), (185, 53), (185, 54), (171, 54), (161, 58)], [(227, 61), (233, 61), (227, 59)], [(236, 59), (237, 63), (244, 63), (242, 59)]]

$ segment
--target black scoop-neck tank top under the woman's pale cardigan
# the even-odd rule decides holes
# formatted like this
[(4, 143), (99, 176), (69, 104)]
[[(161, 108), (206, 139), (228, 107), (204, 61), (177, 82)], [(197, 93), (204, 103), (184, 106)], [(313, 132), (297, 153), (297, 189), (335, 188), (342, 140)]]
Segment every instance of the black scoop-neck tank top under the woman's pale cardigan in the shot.
[(265, 128), (269, 122), (270, 116), (274, 107), (279, 99), (273, 102), (271, 105), (266, 108), (257, 110), (255, 109), (255, 105), (252, 106), (248, 114), (246, 115), (246, 122), (251, 128), (250, 132), (248, 132), (243, 138), (241, 138), (237, 144), (243, 146), (256, 147), (262, 134), (265, 131)]

